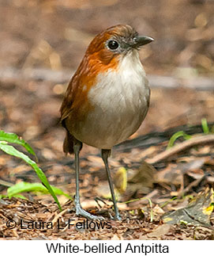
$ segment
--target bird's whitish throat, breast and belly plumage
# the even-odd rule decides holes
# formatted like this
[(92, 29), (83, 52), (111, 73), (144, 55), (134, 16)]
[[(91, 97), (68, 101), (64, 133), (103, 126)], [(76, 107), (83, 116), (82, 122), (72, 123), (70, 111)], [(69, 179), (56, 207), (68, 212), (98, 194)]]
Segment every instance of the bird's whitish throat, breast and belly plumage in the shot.
[(111, 149), (136, 132), (149, 101), (148, 80), (138, 52), (122, 59), (118, 71), (99, 75), (88, 101), (93, 110), (75, 135), (77, 139), (93, 147)]

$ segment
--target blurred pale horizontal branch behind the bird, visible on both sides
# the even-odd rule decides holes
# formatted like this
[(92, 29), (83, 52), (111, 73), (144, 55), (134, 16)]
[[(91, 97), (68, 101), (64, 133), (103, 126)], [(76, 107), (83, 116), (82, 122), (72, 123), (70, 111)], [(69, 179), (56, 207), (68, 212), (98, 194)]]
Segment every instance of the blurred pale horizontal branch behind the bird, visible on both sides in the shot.
[[(17, 69), (15, 67), (0, 68), (0, 82), (17, 82), (28, 80), (49, 81), (54, 83), (67, 83), (72, 77), (74, 71), (62, 69), (59, 71), (28, 67)], [(151, 87), (174, 89), (180, 86), (196, 90), (213, 90), (213, 78), (197, 77), (180, 79), (173, 76), (148, 75), (148, 81)]]

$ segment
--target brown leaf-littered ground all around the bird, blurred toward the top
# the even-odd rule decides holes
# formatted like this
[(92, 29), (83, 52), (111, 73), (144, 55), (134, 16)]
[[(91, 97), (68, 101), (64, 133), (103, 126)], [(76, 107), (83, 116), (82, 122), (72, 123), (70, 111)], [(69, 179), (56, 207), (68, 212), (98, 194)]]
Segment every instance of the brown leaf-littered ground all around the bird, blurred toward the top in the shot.
[[(127, 170), (126, 191), (117, 193), (122, 221), (111, 220), (99, 150), (84, 145), (82, 205), (104, 216), (111, 228), (78, 229), (75, 224), (86, 220), (75, 216), (73, 201), (59, 196), (59, 212), (50, 195), (23, 193), (28, 200), (0, 199), (0, 239), (214, 238), (212, 134), (198, 142), (201, 119), (208, 120), (210, 130), (214, 124), (213, 14), (212, 0), (0, 0), (0, 128), (28, 141), (51, 185), (72, 196), (73, 156), (62, 152), (65, 132), (58, 122), (69, 76), (93, 36), (108, 26), (130, 24), (155, 38), (141, 50), (152, 85), (148, 115), (110, 159), (118, 190), (120, 167)], [(181, 130), (193, 135), (194, 144), (156, 159)], [(178, 145), (182, 143), (180, 139)], [(24, 162), (0, 152), (0, 194), (20, 181), (39, 179)], [(6, 227), (9, 220), (17, 226)], [(30, 221), (53, 227), (29, 228)]]

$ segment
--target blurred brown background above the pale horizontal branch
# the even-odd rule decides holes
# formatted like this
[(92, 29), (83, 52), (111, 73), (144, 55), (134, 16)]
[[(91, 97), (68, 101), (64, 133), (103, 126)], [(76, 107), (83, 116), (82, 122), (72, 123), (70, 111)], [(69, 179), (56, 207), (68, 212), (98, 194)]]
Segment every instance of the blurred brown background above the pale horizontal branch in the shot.
[(213, 0), (1, 0), (0, 67), (76, 69), (96, 33), (129, 24), (156, 39), (141, 51), (148, 73), (212, 75), (213, 4)]

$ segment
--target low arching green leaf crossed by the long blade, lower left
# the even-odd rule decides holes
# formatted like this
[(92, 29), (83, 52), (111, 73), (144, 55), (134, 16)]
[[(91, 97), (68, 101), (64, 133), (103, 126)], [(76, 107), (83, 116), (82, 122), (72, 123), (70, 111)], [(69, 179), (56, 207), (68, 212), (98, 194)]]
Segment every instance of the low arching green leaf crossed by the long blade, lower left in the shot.
[[(69, 197), (69, 195), (64, 193), (61, 189), (58, 189), (52, 185), (51, 185), (51, 189), (53, 189), (55, 194), (66, 196), (70, 200), (72, 200), (72, 197)], [(18, 193), (30, 192), (30, 191), (48, 193), (47, 188), (41, 183), (37, 183), (37, 182), (29, 183), (29, 182), (21, 181), (16, 185), (12, 185), (11, 187), (9, 187), (9, 189), (7, 189), (7, 194), (8, 194), (8, 197), (14, 197)]]

